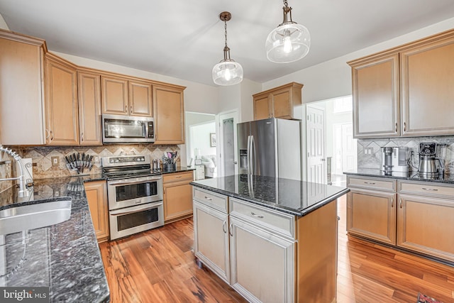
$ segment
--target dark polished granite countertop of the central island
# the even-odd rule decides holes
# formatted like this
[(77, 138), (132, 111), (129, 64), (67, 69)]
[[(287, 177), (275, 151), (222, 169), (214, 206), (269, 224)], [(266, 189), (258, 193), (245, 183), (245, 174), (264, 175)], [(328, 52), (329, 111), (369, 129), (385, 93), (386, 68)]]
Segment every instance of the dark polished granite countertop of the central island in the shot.
[(294, 216), (305, 216), (349, 191), (345, 187), (255, 175), (216, 177), (190, 184)]

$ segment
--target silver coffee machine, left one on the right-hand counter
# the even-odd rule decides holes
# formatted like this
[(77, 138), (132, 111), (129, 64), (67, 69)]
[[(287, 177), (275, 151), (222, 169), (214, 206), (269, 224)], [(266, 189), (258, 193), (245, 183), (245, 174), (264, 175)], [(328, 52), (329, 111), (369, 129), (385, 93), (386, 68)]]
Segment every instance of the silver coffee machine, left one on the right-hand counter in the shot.
[(383, 147), (382, 148), (382, 171), (385, 174), (392, 172), (409, 172), (409, 148)]

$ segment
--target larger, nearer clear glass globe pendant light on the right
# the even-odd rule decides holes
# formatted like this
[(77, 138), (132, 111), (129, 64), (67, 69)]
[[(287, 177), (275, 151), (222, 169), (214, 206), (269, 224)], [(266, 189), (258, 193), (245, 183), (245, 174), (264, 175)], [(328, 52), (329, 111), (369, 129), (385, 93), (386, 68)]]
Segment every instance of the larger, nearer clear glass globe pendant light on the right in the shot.
[(311, 35), (305, 26), (292, 21), (292, 8), (287, 0), (284, 0), (282, 11), (284, 20), (271, 31), (265, 43), (267, 58), (276, 63), (294, 62), (309, 53)]

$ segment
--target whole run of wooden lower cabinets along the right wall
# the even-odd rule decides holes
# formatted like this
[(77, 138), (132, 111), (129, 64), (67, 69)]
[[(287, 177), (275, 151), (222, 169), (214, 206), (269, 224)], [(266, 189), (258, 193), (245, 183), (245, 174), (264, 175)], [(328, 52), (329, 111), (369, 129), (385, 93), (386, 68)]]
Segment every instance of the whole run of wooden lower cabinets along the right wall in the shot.
[(347, 180), (350, 235), (454, 262), (452, 185), (356, 176)]

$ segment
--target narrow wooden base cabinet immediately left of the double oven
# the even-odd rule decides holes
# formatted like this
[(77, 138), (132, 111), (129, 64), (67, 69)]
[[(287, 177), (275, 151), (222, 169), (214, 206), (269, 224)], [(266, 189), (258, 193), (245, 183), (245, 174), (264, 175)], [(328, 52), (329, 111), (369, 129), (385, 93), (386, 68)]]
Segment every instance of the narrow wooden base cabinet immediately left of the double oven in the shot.
[(84, 188), (98, 243), (107, 241), (109, 238), (109, 207), (106, 181), (85, 182)]

